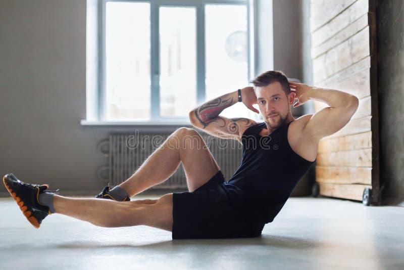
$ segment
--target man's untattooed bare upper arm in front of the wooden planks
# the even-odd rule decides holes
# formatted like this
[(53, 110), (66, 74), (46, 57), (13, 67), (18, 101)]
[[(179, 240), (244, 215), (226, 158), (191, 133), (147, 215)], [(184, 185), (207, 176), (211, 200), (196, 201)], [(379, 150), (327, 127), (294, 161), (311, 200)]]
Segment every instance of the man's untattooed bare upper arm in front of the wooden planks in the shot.
[(358, 109), (359, 100), (352, 96), (345, 107), (327, 107), (313, 114), (305, 126), (305, 131), (318, 141), (330, 136), (344, 127)]

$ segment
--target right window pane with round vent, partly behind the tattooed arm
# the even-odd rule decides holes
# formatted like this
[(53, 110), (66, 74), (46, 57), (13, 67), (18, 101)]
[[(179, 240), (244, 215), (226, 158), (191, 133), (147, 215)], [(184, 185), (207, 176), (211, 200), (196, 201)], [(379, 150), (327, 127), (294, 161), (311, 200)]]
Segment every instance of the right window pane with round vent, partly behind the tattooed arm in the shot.
[[(248, 86), (247, 7), (206, 5), (205, 16), (206, 99), (211, 100)], [(253, 114), (242, 103), (222, 112), (254, 119)]]

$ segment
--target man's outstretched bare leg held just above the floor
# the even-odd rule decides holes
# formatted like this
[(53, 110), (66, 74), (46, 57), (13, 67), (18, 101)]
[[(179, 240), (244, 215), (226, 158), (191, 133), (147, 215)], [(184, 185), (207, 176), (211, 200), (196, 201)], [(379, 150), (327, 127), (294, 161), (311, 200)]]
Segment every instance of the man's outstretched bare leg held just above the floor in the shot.
[[(155, 202), (155, 203), (153, 203)], [(172, 193), (158, 200), (117, 202), (54, 195), (55, 213), (88, 221), (100, 227), (150, 226), (172, 231)]]

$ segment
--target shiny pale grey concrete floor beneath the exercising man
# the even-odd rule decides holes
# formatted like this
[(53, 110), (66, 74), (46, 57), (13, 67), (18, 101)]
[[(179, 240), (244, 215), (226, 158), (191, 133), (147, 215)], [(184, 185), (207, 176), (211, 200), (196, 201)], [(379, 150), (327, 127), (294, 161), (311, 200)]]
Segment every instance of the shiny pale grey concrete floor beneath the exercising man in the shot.
[(1, 198), (0, 209), (1, 269), (404, 269), (397, 206), (292, 197), (261, 237), (208, 240), (172, 240), (146, 226), (100, 228), (60, 214), (35, 229), (11, 198)]

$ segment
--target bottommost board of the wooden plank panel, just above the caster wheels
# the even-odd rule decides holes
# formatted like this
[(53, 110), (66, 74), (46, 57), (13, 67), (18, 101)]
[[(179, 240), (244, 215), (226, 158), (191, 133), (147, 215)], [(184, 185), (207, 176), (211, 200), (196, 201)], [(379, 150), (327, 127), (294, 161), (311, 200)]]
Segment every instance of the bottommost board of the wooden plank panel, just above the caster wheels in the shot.
[(365, 188), (371, 185), (336, 185), (319, 183), (320, 195), (362, 201)]

